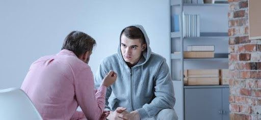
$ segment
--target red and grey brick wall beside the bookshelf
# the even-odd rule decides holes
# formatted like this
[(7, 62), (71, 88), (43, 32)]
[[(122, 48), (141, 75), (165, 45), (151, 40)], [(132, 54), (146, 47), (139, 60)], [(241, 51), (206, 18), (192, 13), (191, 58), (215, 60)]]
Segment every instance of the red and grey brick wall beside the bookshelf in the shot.
[(248, 38), (248, 1), (228, 2), (230, 119), (261, 119), (261, 40)]

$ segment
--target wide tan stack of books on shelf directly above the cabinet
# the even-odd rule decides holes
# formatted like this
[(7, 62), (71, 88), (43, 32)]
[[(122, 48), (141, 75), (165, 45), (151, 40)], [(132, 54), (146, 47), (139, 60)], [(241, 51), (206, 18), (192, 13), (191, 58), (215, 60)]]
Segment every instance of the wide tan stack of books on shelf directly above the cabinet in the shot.
[(219, 70), (185, 70), (185, 85), (219, 85)]

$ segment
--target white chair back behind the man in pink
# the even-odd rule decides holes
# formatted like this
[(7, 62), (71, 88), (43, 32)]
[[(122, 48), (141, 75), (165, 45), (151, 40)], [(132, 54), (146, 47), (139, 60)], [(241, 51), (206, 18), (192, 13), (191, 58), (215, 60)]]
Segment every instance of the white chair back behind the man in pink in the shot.
[(42, 119), (20, 88), (0, 89), (0, 119)]

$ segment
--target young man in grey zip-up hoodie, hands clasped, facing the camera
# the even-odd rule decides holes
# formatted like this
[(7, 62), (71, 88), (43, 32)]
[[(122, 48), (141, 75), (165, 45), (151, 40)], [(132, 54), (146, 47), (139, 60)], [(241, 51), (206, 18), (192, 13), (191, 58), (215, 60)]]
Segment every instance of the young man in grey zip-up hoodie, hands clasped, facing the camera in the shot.
[(99, 86), (110, 70), (118, 74), (107, 88), (107, 119), (177, 119), (166, 59), (151, 52), (144, 28), (125, 27), (119, 42), (117, 53), (103, 59), (95, 76)]

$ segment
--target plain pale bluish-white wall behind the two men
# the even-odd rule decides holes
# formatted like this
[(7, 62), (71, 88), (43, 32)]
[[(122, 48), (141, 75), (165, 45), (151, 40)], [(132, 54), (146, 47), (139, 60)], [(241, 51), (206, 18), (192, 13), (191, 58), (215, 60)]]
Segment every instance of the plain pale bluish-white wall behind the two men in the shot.
[(73, 30), (97, 41), (89, 62), (93, 73), (102, 58), (116, 52), (121, 30), (131, 24), (142, 24), (152, 51), (170, 63), (168, 0), (3, 0), (0, 17), (0, 89), (20, 87), (32, 62), (59, 52)]

